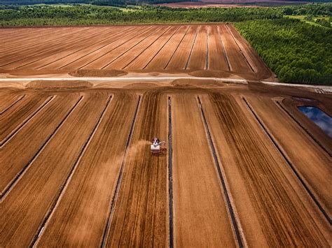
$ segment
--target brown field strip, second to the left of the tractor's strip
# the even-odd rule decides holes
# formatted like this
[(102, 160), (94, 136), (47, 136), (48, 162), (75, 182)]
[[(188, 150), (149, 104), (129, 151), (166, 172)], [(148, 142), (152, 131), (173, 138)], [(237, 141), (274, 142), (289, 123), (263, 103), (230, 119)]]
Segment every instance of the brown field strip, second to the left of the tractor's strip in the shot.
[[(25, 170), (25, 174), (11, 189), (10, 194), (1, 200), (4, 207), (0, 209), (0, 219), (4, 225), (0, 227), (0, 240), (22, 246), (31, 244), (38, 235), (37, 231), (41, 231), (44, 218), (50, 207), (54, 206), (55, 199), (60, 196), (59, 190), (63, 189), (71, 175), (73, 166), (76, 165), (109, 101), (110, 96), (106, 98), (106, 94), (85, 94), (81, 104), (76, 106), (50, 143)], [(84, 129), (78, 129), (82, 125)], [(71, 149), (62, 149), (63, 147)], [(30, 194), (36, 187), (39, 190), (33, 195)], [(8, 225), (11, 228), (8, 228)]]

